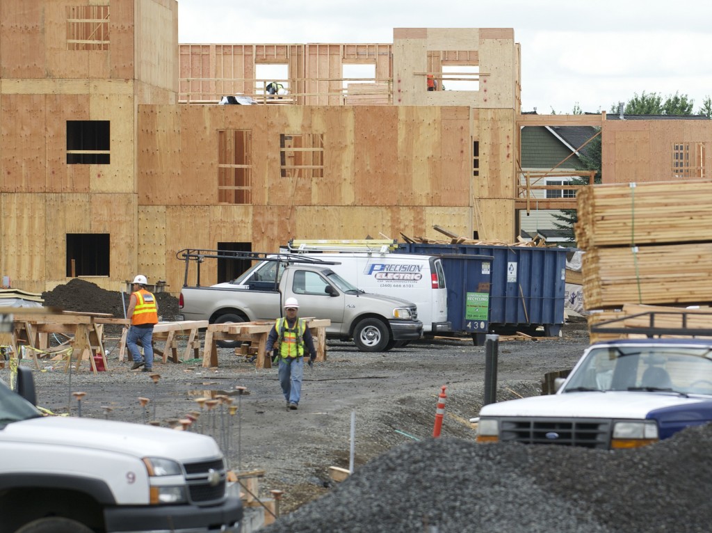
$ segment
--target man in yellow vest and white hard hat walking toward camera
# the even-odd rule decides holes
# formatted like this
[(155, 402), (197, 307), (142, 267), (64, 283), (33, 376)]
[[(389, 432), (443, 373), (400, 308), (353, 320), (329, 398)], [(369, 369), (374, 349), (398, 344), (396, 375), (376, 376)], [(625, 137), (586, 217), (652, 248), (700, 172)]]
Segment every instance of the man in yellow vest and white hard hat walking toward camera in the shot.
[(314, 365), (316, 349), (314, 338), (305, 321), (297, 316), (299, 302), (296, 298), (288, 298), (284, 302), (283, 316), (275, 321), (269, 332), (266, 345), (266, 356), (275, 347), (275, 358), (279, 361), (279, 384), (287, 400), (287, 408), (295, 410), (299, 405), (302, 393), (302, 378), (304, 376), (304, 354), (309, 352), (309, 366)]

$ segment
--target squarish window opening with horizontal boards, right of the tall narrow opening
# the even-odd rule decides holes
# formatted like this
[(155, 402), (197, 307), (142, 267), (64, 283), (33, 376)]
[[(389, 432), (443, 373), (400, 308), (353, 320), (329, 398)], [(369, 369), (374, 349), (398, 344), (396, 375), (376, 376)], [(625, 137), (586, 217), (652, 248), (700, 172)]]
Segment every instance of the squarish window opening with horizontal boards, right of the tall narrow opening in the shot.
[(281, 177), (324, 177), (322, 133), (283, 133), (279, 141)]

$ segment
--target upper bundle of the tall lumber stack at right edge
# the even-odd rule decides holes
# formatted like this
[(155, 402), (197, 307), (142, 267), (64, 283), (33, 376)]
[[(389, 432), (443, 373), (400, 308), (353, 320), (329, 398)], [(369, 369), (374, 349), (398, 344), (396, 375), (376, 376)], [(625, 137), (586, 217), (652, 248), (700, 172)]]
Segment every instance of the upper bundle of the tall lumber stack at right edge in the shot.
[(577, 195), (579, 247), (712, 239), (712, 180), (583, 187)]

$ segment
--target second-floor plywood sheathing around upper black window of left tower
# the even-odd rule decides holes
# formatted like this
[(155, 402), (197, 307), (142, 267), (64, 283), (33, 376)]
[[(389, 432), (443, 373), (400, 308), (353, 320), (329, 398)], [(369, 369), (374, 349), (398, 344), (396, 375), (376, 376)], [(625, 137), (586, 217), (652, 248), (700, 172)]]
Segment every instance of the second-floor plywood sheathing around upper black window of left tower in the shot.
[[(135, 191), (131, 81), (4, 80), (0, 90), (1, 191)], [(110, 120), (111, 165), (67, 165), (68, 120)]]

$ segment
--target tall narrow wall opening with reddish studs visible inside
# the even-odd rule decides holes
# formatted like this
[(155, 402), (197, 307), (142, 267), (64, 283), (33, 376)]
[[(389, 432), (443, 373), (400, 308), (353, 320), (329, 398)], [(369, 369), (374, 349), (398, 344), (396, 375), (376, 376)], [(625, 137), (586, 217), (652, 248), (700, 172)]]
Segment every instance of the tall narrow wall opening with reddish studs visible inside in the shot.
[(251, 130), (218, 130), (218, 203), (252, 203)]

